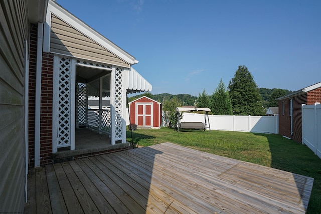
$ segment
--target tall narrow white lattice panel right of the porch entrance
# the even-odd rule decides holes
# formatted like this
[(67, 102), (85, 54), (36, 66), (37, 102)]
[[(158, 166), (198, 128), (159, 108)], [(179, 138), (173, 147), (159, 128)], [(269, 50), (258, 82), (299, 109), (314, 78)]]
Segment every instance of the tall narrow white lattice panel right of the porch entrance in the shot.
[(116, 68), (115, 73), (115, 138), (122, 138), (122, 71), (123, 68)]

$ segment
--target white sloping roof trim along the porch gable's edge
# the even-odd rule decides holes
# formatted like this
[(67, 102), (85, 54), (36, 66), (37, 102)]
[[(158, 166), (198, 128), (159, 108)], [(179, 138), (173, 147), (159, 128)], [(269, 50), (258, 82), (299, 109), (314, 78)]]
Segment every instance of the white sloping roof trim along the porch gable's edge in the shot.
[(92, 29), (86, 23), (78, 19), (76, 16), (68, 12), (66, 9), (64, 9), (57, 3), (53, 2), (52, 0), (49, 0), (47, 16), (51, 16), (51, 13), (53, 13), (55, 16), (57, 16), (59, 19), (61, 19), (68, 25), (72, 26), (80, 33), (84, 34), (89, 39), (95, 41), (97, 44), (104, 47), (120, 59), (124, 60), (128, 64), (133, 65), (138, 63), (138, 61), (135, 60), (133, 56), (131, 56), (123, 49), (109, 41), (107, 38), (99, 34), (97, 31)]

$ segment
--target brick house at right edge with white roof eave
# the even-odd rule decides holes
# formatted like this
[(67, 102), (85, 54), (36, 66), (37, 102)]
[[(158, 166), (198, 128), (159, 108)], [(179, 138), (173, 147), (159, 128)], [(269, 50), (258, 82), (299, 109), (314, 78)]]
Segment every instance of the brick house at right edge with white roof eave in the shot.
[(321, 102), (321, 82), (276, 100), (279, 102), (279, 134), (302, 142), (301, 106)]

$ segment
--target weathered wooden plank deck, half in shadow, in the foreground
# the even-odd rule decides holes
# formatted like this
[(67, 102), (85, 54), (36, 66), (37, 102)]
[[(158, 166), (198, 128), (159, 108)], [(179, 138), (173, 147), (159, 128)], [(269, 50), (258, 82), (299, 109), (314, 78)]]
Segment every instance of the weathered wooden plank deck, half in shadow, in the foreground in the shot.
[(25, 213), (305, 213), (312, 184), (162, 143), (32, 169)]

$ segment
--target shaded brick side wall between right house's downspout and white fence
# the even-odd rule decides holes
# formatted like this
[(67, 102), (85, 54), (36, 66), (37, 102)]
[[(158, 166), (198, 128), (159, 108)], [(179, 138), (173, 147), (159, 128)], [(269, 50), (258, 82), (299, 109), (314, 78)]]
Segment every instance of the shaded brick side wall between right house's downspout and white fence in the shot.
[(292, 139), (296, 142), (302, 142), (302, 104), (307, 103), (307, 93), (293, 97), (293, 135)]

